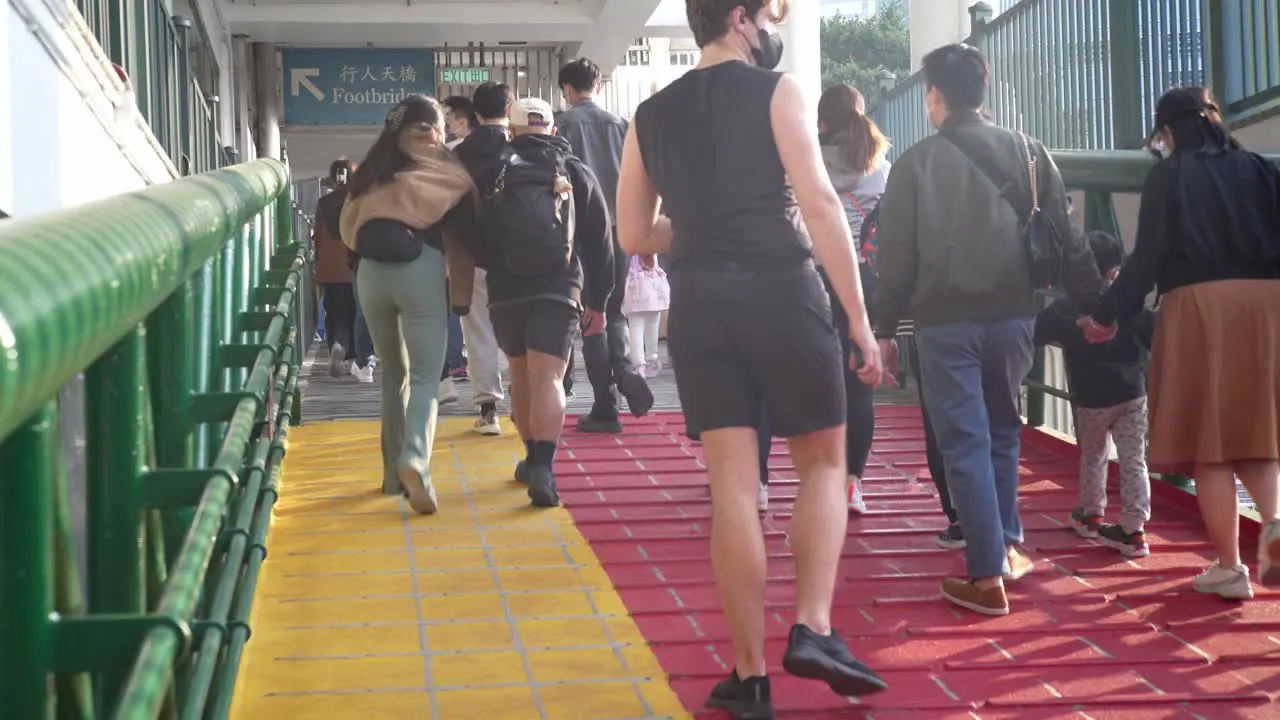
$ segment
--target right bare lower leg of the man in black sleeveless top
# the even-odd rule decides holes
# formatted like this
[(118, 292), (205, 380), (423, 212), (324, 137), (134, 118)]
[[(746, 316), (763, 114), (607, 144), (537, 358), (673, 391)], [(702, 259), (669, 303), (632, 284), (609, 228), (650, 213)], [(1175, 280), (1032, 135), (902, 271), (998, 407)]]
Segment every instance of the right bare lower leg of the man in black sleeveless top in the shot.
[(849, 524), (845, 425), (794, 437), (787, 445), (800, 475), (788, 530), (796, 556), (796, 621), (826, 635)]

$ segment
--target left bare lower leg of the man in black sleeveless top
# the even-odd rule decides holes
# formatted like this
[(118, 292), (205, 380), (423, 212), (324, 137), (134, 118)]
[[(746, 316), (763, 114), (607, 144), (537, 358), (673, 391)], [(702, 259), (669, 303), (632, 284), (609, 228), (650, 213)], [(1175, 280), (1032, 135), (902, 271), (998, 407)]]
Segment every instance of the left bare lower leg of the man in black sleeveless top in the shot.
[(764, 675), (764, 534), (754, 428), (701, 434), (712, 489), (712, 570), (733, 635), (739, 678)]

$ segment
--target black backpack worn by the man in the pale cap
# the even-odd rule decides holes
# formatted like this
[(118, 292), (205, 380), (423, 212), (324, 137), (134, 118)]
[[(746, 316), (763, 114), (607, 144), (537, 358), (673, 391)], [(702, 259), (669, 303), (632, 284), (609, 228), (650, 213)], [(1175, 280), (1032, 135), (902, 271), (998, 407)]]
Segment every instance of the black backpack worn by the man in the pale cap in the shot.
[(480, 211), (488, 270), (536, 277), (570, 266), (575, 213), (566, 161), (563, 154), (534, 161), (503, 154)]

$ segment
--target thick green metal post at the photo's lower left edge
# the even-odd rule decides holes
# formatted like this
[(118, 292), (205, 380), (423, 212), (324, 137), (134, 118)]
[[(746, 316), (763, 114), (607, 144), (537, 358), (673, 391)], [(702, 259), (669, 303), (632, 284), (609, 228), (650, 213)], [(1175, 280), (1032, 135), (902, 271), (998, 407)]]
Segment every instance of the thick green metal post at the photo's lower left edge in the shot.
[(0, 698), (10, 717), (54, 716), (56, 468), (58, 404), (50, 401), (0, 443)]

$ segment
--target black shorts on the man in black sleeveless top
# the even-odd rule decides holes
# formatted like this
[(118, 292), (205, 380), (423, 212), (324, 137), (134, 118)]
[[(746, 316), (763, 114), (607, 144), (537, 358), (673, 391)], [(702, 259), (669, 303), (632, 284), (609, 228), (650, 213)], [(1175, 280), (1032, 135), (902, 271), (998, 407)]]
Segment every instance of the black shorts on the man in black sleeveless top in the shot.
[(767, 273), (678, 269), (667, 346), (692, 434), (754, 428), (762, 405), (778, 437), (845, 423), (844, 354), (812, 264)]

